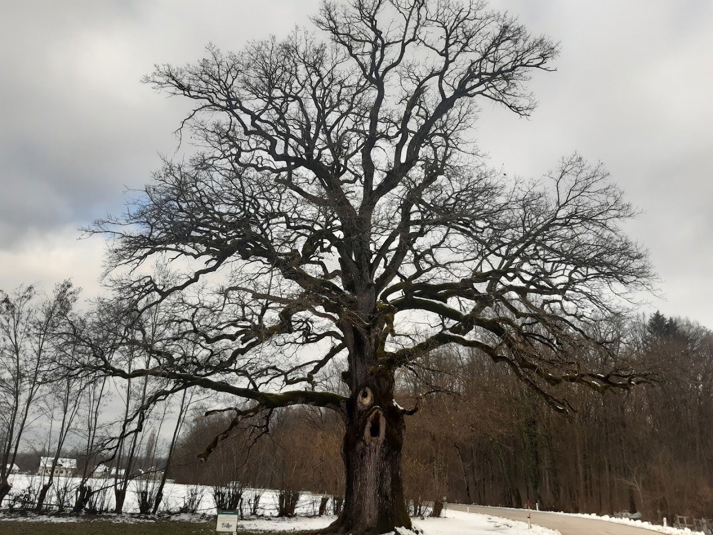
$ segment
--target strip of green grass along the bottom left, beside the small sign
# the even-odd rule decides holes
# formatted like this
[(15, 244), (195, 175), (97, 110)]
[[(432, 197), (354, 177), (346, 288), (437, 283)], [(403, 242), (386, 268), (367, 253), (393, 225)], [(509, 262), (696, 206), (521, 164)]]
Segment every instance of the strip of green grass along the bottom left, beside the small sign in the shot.
[[(180, 522), (155, 521), (138, 524), (118, 522), (34, 522), (0, 521), (0, 535), (215, 535), (215, 521)], [(238, 531), (237, 535), (258, 535), (254, 531)], [(265, 531), (259, 535), (265, 534)]]

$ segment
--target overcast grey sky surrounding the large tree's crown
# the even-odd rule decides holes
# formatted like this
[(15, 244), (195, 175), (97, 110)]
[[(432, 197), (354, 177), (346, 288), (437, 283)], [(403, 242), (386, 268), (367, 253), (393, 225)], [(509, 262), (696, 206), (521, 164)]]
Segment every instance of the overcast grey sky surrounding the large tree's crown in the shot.
[[(78, 228), (123, 207), (170, 154), (186, 103), (139, 83), (153, 63), (212, 41), (283, 36), (315, 0), (1, 0), (0, 288), (73, 277), (98, 293), (103, 241)], [(529, 120), (486, 108), (493, 165), (542, 175), (572, 151), (603, 161), (642, 210), (665, 300), (652, 308), (713, 328), (713, 2), (500, 0), (560, 41), (556, 73), (531, 84)]]

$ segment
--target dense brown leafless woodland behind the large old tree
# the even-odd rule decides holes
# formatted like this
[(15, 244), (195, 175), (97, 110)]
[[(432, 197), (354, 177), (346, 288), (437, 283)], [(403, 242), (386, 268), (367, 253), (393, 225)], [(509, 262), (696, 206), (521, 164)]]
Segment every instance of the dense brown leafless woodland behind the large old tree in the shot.
[[(503, 366), (476, 352), (440, 352), (404, 374), (399, 403), (409, 419), (408, 499), (615, 514), (713, 513), (713, 335), (660, 313), (620, 325), (621, 352), (657, 367), (662, 382), (598, 394), (568, 387), (576, 412), (557, 414)], [(601, 355), (600, 355), (601, 356)], [(424, 396), (425, 392), (431, 394)], [(257, 486), (336, 494), (344, 477), (339, 422), (316, 409), (283, 409), (265, 429), (247, 427), (206, 464), (195, 459), (225, 422), (196, 419), (180, 440), (178, 481), (234, 478)], [(418, 506), (418, 504), (416, 505)]]

